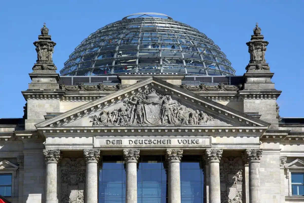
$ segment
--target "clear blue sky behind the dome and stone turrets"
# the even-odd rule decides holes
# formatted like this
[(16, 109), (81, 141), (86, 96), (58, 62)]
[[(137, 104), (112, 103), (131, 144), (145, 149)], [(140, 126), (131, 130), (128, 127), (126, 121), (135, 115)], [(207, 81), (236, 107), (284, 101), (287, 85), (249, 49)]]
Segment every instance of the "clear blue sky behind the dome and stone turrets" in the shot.
[(164, 13), (199, 29), (227, 55), (236, 75), (245, 73), (249, 61), (246, 42), (258, 22), (269, 41), (266, 60), (275, 73), (272, 81), (283, 91), (278, 99), (280, 115), (304, 117), (302, 0), (15, 0), (0, 3), (0, 118), (23, 116), (26, 101), (21, 91), (31, 82), (28, 73), (36, 61), (33, 42), (43, 22), (57, 43), (53, 59), (59, 72), (88, 35), (136, 12)]

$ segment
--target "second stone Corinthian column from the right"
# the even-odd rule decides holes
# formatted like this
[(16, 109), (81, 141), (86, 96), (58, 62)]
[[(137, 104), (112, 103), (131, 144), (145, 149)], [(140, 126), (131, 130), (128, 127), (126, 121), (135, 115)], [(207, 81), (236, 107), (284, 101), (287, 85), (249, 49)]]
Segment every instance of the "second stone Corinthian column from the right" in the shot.
[(205, 151), (206, 159), (209, 162), (209, 203), (221, 203), (219, 162), (222, 154), (222, 149), (207, 149)]

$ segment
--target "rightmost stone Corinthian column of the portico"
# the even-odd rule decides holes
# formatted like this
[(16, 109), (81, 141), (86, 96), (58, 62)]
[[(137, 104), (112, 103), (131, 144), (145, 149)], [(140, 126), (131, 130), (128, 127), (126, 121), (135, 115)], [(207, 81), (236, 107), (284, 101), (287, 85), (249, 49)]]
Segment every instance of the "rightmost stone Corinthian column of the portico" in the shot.
[(247, 149), (245, 157), (249, 163), (249, 203), (261, 202), (260, 159), (262, 150)]

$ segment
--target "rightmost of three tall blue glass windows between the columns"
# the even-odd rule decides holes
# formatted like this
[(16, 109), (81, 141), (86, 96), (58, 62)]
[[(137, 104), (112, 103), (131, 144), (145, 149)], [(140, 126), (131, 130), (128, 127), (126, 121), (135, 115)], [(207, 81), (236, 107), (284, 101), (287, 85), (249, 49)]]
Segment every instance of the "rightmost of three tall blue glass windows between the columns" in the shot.
[(181, 202), (204, 203), (204, 165), (201, 156), (183, 156), (181, 171)]

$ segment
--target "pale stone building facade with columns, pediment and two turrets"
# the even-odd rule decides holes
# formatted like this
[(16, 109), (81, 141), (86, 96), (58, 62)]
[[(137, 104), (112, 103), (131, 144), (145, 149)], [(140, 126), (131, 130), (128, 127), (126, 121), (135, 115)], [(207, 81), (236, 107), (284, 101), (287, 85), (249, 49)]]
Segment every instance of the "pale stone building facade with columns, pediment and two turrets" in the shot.
[[(278, 115), (281, 91), (271, 82), (268, 42), (258, 25), (247, 42), (250, 61), (241, 85), (189, 86), (183, 74), (117, 74), (115, 86), (64, 85), (48, 32), (44, 26), (34, 42), (37, 61), (22, 91), (24, 117), (0, 120), (0, 181), (8, 180), (0, 188), (10, 201), (304, 201), (304, 184), (295, 182), (304, 173), (304, 125)], [(142, 167), (159, 162), (153, 157), (163, 157), (165, 192), (155, 201), (138, 200), (144, 187), (139, 162), (148, 163)], [(185, 186), (190, 176), (183, 176), (183, 161), (193, 157), (202, 160), (197, 163), (203, 176), (194, 175)], [(109, 181), (102, 183), (107, 186), (100, 181), (106, 163), (122, 163), (121, 201), (105, 201), (102, 187), (110, 187)], [(194, 184), (201, 187), (199, 197)], [(189, 197), (183, 196), (187, 188)]]

